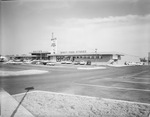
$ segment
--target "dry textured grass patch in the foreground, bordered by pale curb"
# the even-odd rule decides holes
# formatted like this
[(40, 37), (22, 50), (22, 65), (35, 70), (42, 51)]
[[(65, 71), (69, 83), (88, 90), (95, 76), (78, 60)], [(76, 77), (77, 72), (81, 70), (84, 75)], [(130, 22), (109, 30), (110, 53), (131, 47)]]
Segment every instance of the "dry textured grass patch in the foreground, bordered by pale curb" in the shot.
[[(23, 96), (13, 97), (19, 102)], [(150, 114), (150, 104), (45, 91), (29, 92), (22, 105), (35, 117), (149, 117)]]

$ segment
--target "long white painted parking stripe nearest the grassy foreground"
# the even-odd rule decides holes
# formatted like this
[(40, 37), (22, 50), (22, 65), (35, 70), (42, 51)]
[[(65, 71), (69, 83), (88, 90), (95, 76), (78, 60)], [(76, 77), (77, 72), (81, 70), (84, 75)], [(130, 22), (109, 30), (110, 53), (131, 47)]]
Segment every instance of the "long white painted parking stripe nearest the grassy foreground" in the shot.
[(147, 90), (147, 89), (134, 89), (134, 88), (122, 88), (122, 87), (109, 87), (109, 86), (91, 85), (91, 84), (81, 84), (81, 83), (74, 83), (74, 84), (76, 84), (76, 85), (81, 85), (81, 86), (89, 86), (89, 87), (99, 87), (99, 88), (109, 88), (109, 89), (119, 89), (119, 90), (146, 91), (146, 92), (150, 92), (150, 90)]

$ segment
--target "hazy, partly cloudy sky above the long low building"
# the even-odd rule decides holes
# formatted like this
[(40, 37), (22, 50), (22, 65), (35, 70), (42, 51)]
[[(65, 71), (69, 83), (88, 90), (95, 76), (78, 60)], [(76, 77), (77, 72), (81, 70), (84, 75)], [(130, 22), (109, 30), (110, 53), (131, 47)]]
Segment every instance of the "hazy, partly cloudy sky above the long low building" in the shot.
[(0, 54), (51, 51), (150, 52), (149, 0), (9, 0), (0, 3)]

